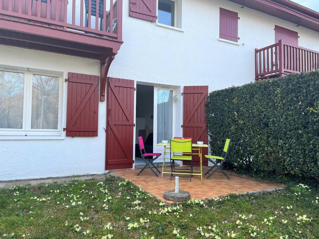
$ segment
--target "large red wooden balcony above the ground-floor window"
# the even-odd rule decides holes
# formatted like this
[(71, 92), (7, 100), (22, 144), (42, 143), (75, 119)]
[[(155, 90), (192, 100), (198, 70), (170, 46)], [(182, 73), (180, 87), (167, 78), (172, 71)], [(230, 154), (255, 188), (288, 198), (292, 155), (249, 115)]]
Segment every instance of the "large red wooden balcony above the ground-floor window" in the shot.
[(0, 44), (105, 63), (122, 44), (122, 0), (96, 3), (97, 0), (0, 0)]

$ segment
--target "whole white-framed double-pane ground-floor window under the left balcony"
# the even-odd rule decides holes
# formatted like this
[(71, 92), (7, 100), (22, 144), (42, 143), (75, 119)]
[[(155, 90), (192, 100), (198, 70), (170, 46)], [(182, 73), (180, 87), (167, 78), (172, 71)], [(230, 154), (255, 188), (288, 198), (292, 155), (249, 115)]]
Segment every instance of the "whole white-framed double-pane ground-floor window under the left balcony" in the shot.
[(0, 135), (60, 135), (61, 79), (0, 69)]

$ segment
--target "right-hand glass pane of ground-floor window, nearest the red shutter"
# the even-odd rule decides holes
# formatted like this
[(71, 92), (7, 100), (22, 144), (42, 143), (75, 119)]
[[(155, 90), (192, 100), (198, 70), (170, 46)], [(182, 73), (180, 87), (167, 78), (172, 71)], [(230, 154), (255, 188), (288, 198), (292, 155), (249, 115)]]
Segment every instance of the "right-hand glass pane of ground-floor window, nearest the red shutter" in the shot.
[(58, 129), (59, 77), (33, 75), (32, 129)]

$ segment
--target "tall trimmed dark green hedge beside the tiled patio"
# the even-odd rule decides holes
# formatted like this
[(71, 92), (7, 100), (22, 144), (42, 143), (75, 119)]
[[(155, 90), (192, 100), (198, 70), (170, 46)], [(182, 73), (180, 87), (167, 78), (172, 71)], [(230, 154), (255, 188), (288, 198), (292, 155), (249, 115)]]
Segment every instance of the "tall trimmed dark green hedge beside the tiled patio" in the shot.
[(287, 182), (319, 180), (319, 71), (209, 94), (211, 154), (232, 139), (225, 168)]

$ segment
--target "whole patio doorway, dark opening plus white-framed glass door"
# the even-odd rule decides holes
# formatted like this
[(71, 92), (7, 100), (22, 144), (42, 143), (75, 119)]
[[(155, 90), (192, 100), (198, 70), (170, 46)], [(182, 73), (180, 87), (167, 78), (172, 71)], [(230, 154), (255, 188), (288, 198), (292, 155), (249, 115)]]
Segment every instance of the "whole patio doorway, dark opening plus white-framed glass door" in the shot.
[[(164, 148), (157, 146), (162, 140), (169, 141), (175, 134), (175, 88), (167, 86), (136, 85), (136, 137), (135, 166), (144, 165), (138, 146), (138, 136), (143, 137), (146, 153), (161, 153), (154, 163), (162, 163)], [(169, 157), (165, 158), (169, 162)]]

